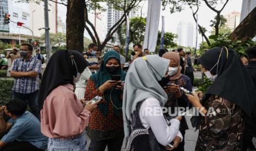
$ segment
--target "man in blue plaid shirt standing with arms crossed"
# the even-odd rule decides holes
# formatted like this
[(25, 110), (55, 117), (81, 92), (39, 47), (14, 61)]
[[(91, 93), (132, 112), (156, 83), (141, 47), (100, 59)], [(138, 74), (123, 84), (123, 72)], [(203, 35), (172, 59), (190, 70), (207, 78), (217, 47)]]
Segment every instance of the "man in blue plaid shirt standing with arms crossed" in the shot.
[(14, 77), (13, 98), (28, 101), (31, 113), (39, 118), (37, 111), (37, 97), (39, 93), (39, 73), (41, 61), (32, 57), (31, 44), (21, 44), (20, 58), (13, 61), (10, 75)]

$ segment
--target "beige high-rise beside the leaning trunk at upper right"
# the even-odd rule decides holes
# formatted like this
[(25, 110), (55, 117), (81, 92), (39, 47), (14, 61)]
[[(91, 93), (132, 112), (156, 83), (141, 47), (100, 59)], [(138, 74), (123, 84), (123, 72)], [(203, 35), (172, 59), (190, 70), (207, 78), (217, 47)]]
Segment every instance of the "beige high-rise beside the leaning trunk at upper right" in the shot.
[(227, 19), (226, 26), (230, 28), (231, 31), (235, 30), (239, 25), (240, 16), (238, 11), (233, 11), (231, 14), (224, 15), (224, 18)]

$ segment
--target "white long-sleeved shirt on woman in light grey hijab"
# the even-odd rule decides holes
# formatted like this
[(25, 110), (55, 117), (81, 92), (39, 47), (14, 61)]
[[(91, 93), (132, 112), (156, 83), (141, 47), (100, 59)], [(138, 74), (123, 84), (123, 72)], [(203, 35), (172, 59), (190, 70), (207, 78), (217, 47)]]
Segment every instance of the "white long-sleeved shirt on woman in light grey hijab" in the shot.
[(171, 125), (168, 126), (160, 102), (155, 98), (147, 98), (140, 106), (139, 117), (141, 124), (148, 128), (151, 127), (157, 142), (162, 146), (167, 146), (176, 136), (183, 140), (181, 132), (179, 132), (179, 120), (171, 119)]

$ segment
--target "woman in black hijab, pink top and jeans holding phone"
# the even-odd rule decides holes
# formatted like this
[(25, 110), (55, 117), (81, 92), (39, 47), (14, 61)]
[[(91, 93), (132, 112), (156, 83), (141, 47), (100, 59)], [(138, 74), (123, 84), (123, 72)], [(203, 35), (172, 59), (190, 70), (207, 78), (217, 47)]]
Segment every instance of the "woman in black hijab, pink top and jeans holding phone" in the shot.
[(85, 150), (85, 127), (90, 112), (74, 94), (73, 84), (88, 66), (78, 51), (59, 50), (51, 56), (39, 92), (41, 131), (49, 138), (48, 150)]

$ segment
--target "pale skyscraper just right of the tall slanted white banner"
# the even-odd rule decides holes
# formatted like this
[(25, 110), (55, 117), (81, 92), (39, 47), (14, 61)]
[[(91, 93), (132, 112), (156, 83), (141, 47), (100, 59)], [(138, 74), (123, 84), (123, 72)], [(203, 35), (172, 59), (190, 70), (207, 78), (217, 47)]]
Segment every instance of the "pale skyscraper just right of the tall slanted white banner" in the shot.
[(179, 22), (177, 26), (178, 45), (193, 47), (194, 25), (191, 22)]

